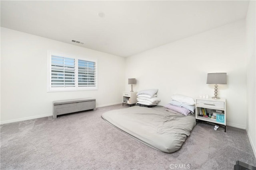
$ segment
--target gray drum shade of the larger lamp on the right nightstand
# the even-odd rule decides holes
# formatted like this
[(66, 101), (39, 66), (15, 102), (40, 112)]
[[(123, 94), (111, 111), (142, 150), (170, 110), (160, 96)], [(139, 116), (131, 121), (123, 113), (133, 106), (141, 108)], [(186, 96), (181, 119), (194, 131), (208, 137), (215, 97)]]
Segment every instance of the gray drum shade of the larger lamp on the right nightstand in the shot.
[(208, 73), (206, 84), (227, 84), (227, 73), (226, 72)]

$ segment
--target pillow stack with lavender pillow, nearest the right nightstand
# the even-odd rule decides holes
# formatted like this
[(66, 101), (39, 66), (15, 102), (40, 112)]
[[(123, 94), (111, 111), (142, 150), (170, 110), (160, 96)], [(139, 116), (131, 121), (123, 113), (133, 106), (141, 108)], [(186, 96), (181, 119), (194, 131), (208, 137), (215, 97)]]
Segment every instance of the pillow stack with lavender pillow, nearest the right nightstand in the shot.
[(194, 113), (196, 108), (195, 104), (194, 99), (188, 96), (176, 94), (172, 96), (172, 100), (164, 107), (166, 107), (166, 111), (180, 113), (187, 116)]

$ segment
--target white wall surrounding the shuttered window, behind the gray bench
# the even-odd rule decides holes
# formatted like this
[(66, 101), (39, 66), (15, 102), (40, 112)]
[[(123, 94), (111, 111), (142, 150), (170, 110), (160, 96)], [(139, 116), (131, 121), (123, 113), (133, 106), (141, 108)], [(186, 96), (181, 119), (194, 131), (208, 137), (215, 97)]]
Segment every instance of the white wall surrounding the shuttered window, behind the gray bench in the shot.
[[(98, 59), (98, 90), (47, 92), (47, 50)], [(52, 101), (96, 98), (96, 107), (121, 103), (122, 57), (1, 27), (1, 123), (52, 115)]]

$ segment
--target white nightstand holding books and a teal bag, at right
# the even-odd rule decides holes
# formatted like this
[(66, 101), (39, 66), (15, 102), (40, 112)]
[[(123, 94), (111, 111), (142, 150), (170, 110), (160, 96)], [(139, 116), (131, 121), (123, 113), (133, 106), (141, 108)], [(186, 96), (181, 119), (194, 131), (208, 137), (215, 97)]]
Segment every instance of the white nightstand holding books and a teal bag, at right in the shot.
[[(204, 114), (221, 115), (220, 119), (203, 116)], [(226, 99), (198, 98), (196, 99), (196, 122), (208, 121), (225, 126), (226, 132)]]

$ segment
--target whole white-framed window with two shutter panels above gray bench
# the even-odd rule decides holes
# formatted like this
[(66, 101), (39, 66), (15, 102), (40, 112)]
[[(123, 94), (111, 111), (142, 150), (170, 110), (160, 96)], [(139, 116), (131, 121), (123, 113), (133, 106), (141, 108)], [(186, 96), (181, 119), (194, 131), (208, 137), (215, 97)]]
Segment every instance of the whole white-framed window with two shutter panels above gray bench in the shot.
[(48, 52), (48, 92), (97, 90), (97, 61)]

